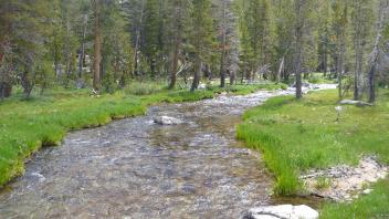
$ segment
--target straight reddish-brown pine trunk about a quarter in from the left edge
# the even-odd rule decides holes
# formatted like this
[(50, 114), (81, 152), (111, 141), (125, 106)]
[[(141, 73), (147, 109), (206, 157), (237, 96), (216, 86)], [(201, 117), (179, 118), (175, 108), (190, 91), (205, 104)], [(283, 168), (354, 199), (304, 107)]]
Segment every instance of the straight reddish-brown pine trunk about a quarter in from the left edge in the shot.
[(101, 62), (102, 62), (102, 33), (99, 23), (99, 0), (93, 0), (95, 15), (94, 29), (94, 62), (93, 62), (93, 88), (98, 92), (101, 88)]

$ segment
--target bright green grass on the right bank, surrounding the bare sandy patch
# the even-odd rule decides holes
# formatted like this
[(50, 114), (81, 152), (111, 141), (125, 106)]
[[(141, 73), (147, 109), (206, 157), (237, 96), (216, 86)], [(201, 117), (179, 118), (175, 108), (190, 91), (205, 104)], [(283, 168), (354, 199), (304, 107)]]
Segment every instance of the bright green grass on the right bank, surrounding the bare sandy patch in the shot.
[[(374, 107), (343, 106), (339, 122), (335, 111), (337, 91), (313, 92), (302, 101), (293, 96), (273, 97), (244, 114), (238, 137), (263, 152), (276, 178), (275, 192), (301, 194), (306, 188), (299, 176), (309, 170), (357, 166), (370, 155), (379, 164), (389, 164), (389, 91), (379, 93)], [(317, 187), (330, 184), (330, 179), (323, 178)], [(320, 210), (322, 218), (387, 218), (388, 187), (386, 178), (358, 199), (328, 201)]]

